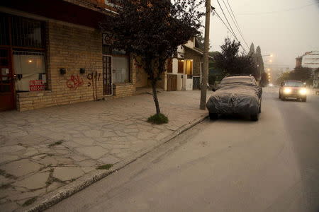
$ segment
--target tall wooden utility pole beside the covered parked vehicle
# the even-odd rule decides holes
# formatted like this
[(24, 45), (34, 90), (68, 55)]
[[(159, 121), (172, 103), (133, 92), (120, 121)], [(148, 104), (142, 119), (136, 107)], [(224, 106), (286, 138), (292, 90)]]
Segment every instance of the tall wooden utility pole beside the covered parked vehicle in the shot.
[(208, 51), (209, 51), (209, 24), (211, 20), (211, 0), (206, 0), (206, 21), (205, 21), (205, 38), (203, 52), (203, 71), (201, 71), (201, 103), (199, 108), (206, 109), (206, 93), (208, 81)]

